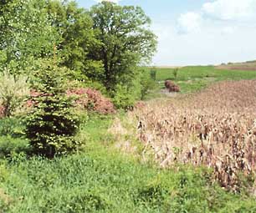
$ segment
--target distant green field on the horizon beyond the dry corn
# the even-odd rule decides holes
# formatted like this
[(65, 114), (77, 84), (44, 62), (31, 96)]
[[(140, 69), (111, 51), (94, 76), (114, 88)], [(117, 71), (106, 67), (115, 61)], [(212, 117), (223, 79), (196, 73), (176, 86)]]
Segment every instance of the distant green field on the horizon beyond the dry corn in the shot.
[(156, 70), (156, 89), (147, 96), (147, 99), (161, 96), (159, 91), (165, 88), (166, 79), (178, 84), (183, 94), (196, 92), (217, 81), (256, 79), (256, 71), (223, 70), (213, 66), (179, 68), (177, 78), (174, 76), (174, 68), (146, 68), (146, 74), (150, 74), (151, 70)]

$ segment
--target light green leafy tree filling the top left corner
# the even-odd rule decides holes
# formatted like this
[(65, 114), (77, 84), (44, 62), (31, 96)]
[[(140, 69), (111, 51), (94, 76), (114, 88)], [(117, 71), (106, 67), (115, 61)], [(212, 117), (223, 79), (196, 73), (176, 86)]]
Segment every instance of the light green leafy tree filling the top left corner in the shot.
[(53, 55), (59, 33), (49, 22), (46, 0), (0, 2), (0, 65), (20, 72)]

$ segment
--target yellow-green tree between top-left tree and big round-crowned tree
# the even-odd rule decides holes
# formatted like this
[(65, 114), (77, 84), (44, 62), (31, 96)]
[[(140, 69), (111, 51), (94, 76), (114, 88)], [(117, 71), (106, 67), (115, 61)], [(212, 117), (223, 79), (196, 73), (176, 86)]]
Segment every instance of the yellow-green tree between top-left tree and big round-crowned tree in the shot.
[(58, 29), (62, 38), (58, 45), (61, 64), (74, 70), (77, 79), (101, 79), (101, 61), (88, 57), (88, 53), (100, 45), (89, 14), (75, 2), (56, 0), (49, 1), (48, 11), (52, 26)]

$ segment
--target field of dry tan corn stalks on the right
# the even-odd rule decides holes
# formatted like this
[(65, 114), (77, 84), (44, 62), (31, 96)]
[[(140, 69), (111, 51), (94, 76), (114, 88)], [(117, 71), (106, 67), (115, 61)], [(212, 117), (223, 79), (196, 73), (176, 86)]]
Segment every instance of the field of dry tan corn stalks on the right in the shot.
[[(153, 101), (130, 116), (137, 135), (162, 167), (206, 165), (229, 189), (256, 170), (256, 81), (223, 82), (200, 93)], [(254, 183), (255, 184), (255, 183)]]

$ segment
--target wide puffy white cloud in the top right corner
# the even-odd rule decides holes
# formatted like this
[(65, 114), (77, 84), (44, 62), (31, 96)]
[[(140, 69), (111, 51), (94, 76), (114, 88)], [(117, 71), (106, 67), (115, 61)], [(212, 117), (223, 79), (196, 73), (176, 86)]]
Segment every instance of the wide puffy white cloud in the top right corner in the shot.
[(248, 21), (256, 18), (256, 0), (215, 0), (204, 3), (202, 11), (212, 18)]

